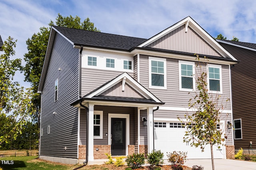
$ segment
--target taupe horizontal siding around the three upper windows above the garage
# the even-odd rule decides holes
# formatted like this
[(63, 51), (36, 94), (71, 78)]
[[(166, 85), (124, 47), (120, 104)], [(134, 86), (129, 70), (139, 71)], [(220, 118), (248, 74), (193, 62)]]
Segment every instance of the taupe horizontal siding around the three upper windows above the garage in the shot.
[[(155, 57), (155, 56), (154, 56)], [(196, 63), (196, 61), (195, 61)], [(149, 72), (148, 72), (148, 56), (140, 55), (140, 84), (152, 92), (166, 107), (188, 107), (188, 101), (195, 95), (194, 92), (179, 90), (179, 68), (178, 59), (166, 58), (167, 70), (167, 90), (153, 89), (149, 87)], [(222, 94), (220, 102), (224, 105), (224, 109), (231, 109), (230, 102), (230, 81), (229, 81), (228, 65), (222, 65)], [(214, 96), (214, 94), (213, 94)], [(219, 103), (220, 104), (220, 103)]]

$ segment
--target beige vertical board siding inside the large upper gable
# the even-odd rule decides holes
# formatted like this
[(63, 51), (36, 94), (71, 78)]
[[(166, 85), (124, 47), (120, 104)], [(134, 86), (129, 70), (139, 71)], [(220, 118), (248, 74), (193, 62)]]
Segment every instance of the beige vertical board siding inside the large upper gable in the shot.
[(189, 26), (188, 32), (186, 33), (185, 25), (178, 27), (174, 31), (166, 34), (147, 47), (219, 57), (221, 56)]

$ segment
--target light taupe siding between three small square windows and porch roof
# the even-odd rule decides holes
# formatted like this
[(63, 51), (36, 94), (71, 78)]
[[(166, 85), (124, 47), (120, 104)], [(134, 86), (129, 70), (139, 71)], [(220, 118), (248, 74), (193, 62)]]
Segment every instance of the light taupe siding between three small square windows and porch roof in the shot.
[[(100, 87), (104, 83), (116, 78), (118, 75), (122, 74), (120, 71), (110, 71), (110, 70), (99, 70), (82, 68), (82, 80), (81, 80), (81, 91), (82, 96), (90, 93), (92, 90)], [(134, 76), (133, 73), (128, 73), (130, 76)]]

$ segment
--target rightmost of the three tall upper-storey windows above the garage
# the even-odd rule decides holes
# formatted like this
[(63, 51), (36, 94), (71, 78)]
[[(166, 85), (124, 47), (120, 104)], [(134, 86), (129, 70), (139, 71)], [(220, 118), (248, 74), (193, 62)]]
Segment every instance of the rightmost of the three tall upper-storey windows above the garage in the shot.
[(209, 64), (208, 84), (212, 92), (222, 92), (221, 66)]

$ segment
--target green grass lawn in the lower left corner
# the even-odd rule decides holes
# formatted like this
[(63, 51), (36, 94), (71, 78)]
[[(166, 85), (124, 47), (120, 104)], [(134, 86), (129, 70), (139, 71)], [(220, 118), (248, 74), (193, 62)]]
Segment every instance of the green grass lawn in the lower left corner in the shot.
[[(34, 160), (38, 156), (17, 156), (17, 157), (5, 157), (0, 158), (0, 167), (3, 170), (71, 170), (78, 165), (60, 165), (44, 161)], [(13, 164), (3, 164), (2, 160), (13, 160)]]

